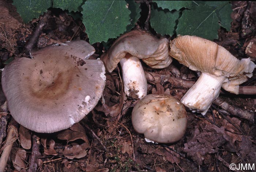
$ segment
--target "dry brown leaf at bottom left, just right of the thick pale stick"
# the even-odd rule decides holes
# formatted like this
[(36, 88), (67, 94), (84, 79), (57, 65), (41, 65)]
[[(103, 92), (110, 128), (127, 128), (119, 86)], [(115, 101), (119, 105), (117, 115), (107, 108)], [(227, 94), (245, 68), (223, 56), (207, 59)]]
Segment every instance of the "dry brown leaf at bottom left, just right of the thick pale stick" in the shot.
[(11, 160), (14, 168), (16, 168), (18, 171), (21, 169), (27, 168), (27, 164), (25, 163), (26, 159), (26, 150), (22, 148), (12, 148), (11, 151)]

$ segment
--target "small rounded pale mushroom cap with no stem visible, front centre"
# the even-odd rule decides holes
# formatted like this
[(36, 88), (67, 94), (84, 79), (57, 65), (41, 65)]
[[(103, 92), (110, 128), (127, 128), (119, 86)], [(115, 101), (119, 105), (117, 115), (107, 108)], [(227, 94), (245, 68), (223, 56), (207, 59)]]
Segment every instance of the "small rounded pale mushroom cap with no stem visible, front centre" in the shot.
[(132, 125), (146, 140), (173, 143), (185, 134), (187, 112), (171, 95), (149, 94), (133, 107)]

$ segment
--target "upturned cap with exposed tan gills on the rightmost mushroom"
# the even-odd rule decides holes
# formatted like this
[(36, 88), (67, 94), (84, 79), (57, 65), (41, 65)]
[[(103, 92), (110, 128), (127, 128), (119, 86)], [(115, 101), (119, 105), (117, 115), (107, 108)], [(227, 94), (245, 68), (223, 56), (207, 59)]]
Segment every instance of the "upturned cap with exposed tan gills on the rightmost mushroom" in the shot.
[(238, 60), (224, 47), (196, 36), (178, 36), (170, 42), (170, 48), (170, 56), (189, 69), (227, 77), (222, 87), (236, 94), (238, 85), (251, 77), (255, 68), (249, 58)]

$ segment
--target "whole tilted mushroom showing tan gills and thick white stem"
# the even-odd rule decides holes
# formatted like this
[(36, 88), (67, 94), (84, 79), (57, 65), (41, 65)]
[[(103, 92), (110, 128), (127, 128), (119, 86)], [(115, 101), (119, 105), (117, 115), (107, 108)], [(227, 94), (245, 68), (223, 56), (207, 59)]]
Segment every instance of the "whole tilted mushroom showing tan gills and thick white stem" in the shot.
[(219, 96), (221, 87), (238, 94), (239, 84), (252, 76), (256, 66), (249, 58), (238, 60), (224, 47), (200, 37), (178, 36), (170, 42), (170, 48), (170, 56), (189, 69), (202, 72), (181, 103), (203, 115)]

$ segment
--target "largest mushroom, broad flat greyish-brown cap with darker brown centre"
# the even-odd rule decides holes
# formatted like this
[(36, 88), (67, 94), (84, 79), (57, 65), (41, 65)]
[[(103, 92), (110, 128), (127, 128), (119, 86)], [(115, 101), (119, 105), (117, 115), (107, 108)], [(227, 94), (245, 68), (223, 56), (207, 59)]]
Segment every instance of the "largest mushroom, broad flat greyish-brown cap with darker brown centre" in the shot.
[(106, 81), (101, 60), (82, 60), (94, 51), (85, 41), (71, 41), (5, 66), (2, 87), (12, 117), (39, 133), (67, 129), (83, 119), (101, 98)]

